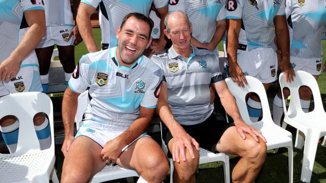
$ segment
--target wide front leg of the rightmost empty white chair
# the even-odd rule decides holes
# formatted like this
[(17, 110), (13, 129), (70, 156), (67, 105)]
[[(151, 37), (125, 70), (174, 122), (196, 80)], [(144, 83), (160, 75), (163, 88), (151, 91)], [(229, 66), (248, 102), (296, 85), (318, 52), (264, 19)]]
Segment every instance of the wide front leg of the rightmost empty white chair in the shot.
[(309, 131), (306, 133), (300, 178), (302, 181), (310, 182), (319, 137), (320, 133), (317, 131)]

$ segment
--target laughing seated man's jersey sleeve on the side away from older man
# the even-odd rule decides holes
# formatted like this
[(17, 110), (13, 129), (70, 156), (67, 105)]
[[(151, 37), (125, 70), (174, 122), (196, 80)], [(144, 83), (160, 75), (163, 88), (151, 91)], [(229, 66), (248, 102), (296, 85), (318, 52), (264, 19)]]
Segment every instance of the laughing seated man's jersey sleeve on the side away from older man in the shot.
[(87, 87), (91, 86), (91, 82), (88, 79), (88, 68), (90, 64), (90, 59), (87, 55), (84, 55), (80, 58), (72, 77), (70, 78), (68, 84), (71, 90), (82, 93)]

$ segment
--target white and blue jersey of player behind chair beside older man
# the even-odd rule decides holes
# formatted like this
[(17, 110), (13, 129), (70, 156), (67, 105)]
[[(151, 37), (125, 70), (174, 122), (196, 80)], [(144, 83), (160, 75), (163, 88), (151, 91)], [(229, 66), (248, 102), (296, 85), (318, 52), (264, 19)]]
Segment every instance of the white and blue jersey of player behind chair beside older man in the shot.
[(227, 0), (226, 2), (226, 18), (243, 20), (247, 50), (257, 47), (272, 47), (276, 50), (273, 22), (276, 15), (285, 15), (285, 0)]

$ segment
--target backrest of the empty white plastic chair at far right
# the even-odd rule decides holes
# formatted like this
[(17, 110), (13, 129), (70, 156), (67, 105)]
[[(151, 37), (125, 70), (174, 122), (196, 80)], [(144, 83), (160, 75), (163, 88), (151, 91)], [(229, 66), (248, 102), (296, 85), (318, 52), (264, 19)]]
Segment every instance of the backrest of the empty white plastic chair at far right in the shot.
[(283, 88), (289, 88), (291, 94), (291, 100), (288, 111), (286, 111), (286, 108), (283, 107), (284, 115), (288, 116), (288, 113), (303, 113), (299, 97), (299, 88), (302, 85), (308, 86), (312, 91), (314, 111), (324, 112), (317, 81), (310, 73), (302, 70), (295, 71), (294, 80), (292, 82), (285, 82), (285, 74), (284, 72), (282, 72), (279, 75), (279, 83), (282, 90), (283, 106), (285, 106)]

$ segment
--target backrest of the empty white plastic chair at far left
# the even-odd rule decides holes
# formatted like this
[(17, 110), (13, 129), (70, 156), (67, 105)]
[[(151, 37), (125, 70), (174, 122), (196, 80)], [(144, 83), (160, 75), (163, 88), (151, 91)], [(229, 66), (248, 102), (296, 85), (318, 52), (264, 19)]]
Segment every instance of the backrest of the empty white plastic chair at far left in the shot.
[(51, 147), (54, 150), (53, 105), (51, 98), (42, 92), (13, 93), (0, 97), (0, 118), (15, 115), (19, 119), (17, 150), (14, 154), (22, 154), (30, 150), (40, 150), (33, 118), (35, 114), (44, 112), (49, 117), (51, 129)]

